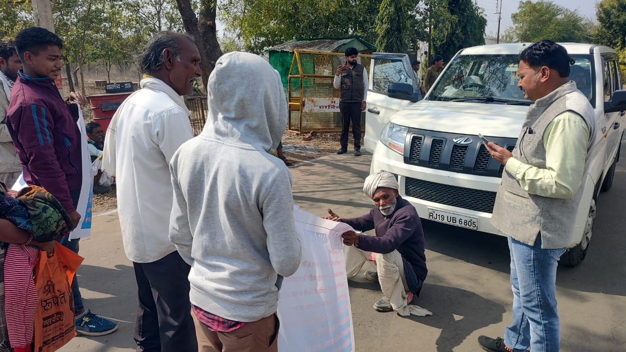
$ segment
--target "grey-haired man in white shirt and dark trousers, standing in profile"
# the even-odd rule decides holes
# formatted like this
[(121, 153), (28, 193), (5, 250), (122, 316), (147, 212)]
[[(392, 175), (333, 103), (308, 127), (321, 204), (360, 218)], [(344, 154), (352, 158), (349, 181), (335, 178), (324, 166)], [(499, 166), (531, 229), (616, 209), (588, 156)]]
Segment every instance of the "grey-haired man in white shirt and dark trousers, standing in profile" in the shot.
[(105, 137), (103, 168), (115, 175), (124, 250), (133, 261), (139, 306), (137, 351), (197, 352), (190, 266), (168, 239), (173, 190), (168, 163), (193, 138), (181, 95), (202, 75), (185, 34), (156, 33), (141, 49), (141, 89), (118, 108)]

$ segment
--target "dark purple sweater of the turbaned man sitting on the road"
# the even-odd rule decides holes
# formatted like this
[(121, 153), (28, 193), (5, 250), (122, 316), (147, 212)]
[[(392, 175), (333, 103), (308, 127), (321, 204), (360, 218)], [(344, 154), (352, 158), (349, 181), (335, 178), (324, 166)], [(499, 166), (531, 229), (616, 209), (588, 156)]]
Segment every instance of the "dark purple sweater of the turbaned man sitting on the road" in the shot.
[[(400, 252), (404, 259), (404, 274), (409, 289), (419, 294), (421, 284), (428, 274), (422, 223), (413, 205), (402, 197), (398, 197), (397, 201), (396, 209), (389, 216), (382, 215), (374, 207), (361, 217), (341, 221), (359, 231), (376, 229), (376, 237), (361, 236), (359, 249), (375, 253), (390, 253), (394, 250)], [(411, 277), (413, 275), (416, 277)]]

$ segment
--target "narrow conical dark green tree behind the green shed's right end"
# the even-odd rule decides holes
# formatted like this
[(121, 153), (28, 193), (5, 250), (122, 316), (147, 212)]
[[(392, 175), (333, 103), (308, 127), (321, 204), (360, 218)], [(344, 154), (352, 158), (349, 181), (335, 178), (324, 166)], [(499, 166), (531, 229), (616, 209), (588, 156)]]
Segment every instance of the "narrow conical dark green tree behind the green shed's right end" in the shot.
[(383, 53), (404, 53), (409, 34), (408, 4), (405, 0), (382, 0), (376, 17), (376, 46)]

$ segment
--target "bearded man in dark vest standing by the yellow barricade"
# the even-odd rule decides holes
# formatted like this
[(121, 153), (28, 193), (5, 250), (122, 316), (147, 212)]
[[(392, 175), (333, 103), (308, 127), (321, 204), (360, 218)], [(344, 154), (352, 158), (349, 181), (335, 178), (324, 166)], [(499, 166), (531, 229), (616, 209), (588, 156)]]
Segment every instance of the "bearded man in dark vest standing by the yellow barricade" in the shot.
[(348, 128), (352, 121), (352, 138), (354, 138), (354, 155), (361, 155), (361, 111), (365, 110), (367, 97), (367, 71), (356, 62), (359, 51), (356, 48), (346, 49), (346, 65), (337, 68), (332, 86), (341, 88), (339, 111), (341, 111), (341, 149), (337, 154), (348, 151)]

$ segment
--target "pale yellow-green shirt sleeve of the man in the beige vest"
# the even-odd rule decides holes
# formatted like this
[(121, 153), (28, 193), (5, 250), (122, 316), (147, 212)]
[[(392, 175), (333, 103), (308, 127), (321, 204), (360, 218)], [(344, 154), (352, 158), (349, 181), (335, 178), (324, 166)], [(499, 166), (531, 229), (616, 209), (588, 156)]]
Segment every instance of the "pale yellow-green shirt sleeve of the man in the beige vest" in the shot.
[(543, 133), (546, 168), (538, 168), (510, 158), (506, 170), (530, 194), (569, 199), (580, 187), (587, 157), (589, 128), (582, 116), (572, 111), (560, 113)]

